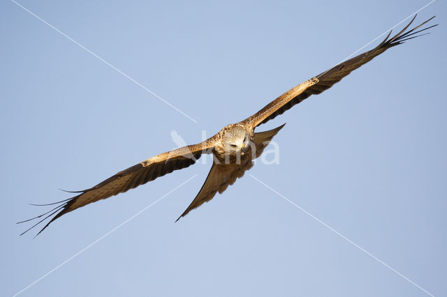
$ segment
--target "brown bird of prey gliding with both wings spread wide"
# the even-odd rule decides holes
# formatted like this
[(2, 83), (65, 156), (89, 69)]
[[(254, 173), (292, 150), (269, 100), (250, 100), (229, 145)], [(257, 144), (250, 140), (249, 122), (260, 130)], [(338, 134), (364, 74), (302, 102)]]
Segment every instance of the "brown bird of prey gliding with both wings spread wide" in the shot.
[[(212, 154), (213, 164), (210, 173), (196, 198), (193, 199), (188, 208), (186, 208), (182, 215), (179, 216), (179, 218), (184, 217), (194, 208), (198, 208), (205, 202), (210, 201), (217, 192), (220, 194), (225, 191), (226, 188), (228, 188), (228, 185), (233, 185), (233, 183), (235, 183), (237, 178), (241, 178), (244, 175), (244, 172), (253, 166), (254, 163), (252, 160), (258, 158), (261, 153), (263, 153), (263, 149), (269, 144), (272, 138), (277, 135), (279, 130), (284, 127), (284, 125), (281, 125), (278, 128), (265, 132), (254, 132), (258, 125), (266, 123), (280, 114), (283, 114), (286, 110), (291, 109), (293, 105), (297, 105), (309, 96), (326, 91), (339, 82), (343, 77), (349, 75), (351, 71), (368, 63), (374, 59), (374, 57), (379, 56), (379, 54), (382, 54), (391, 47), (400, 45), (406, 40), (425, 35), (426, 33), (420, 35), (416, 34), (437, 26), (437, 24), (434, 24), (425, 27), (424, 29), (420, 29), (421, 26), (430, 22), (430, 20), (434, 18), (431, 17), (429, 20), (426, 20), (422, 24), (407, 31), (415, 18), (416, 15), (411, 22), (402, 29), (402, 31), (391, 38), (390, 31), (388, 36), (386, 36), (379, 45), (374, 47), (374, 49), (339, 63), (337, 66), (308, 79), (302, 84), (294, 86), (268, 105), (265, 105), (265, 107), (256, 112), (256, 114), (239, 123), (227, 125), (217, 132), (216, 135), (206, 139), (200, 144), (192, 144), (155, 155), (154, 157), (129, 167), (122, 172), (118, 172), (114, 176), (107, 178), (105, 181), (98, 183), (98, 185), (95, 185), (92, 188), (75, 192), (78, 193), (75, 197), (52, 204), (41, 204), (56, 205), (56, 207), (52, 208), (52, 210), (47, 213), (38, 215), (36, 218), (22, 221), (28, 222), (43, 217), (22, 234), (54, 215), (54, 217), (45, 224), (43, 229), (38, 232), (38, 234), (40, 234), (51, 222), (61, 217), (61, 215), (65, 215), (66, 213), (74, 211), (82, 206), (86, 206), (92, 202), (126, 192), (127, 190), (153, 181), (155, 178), (159, 178), (174, 170), (189, 167), (204, 153)], [(177, 220), (179, 220), (179, 218)]]

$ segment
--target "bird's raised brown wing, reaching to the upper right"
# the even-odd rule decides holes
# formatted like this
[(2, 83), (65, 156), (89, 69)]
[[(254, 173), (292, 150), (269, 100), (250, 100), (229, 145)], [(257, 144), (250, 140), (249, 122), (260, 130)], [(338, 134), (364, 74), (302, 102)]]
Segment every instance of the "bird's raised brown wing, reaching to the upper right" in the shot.
[[(416, 15), (413, 17), (413, 20), (415, 18)], [(392, 38), (389, 38), (391, 34), (390, 31), (388, 36), (386, 36), (385, 40), (383, 40), (379, 45), (374, 47), (374, 49), (369, 50), (368, 52), (364, 52), (363, 54), (359, 54), (358, 56), (355, 56), (347, 61), (344, 61), (343, 63), (339, 63), (337, 66), (334, 66), (329, 70), (326, 70), (325, 72), (316, 75), (316, 77), (313, 77), (312, 79), (309, 79), (306, 82), (303, 82), (302, 84), (298, 84), (298, 86), (295, 86), (292, 89), (286, 91), (286, 93), (282, 94), (281, 96), (270, 102), (268, 105), (265, 105), (263, 109), (261, 109), (253, 116), (250, 116), (248, 119), (245, 119), (244, 121), (242, 121), (242, 123), (249, 125), (251, 128), (255, 128), (258, 125), (261, 125), (263, 123), (266, 123), (267, 121), (270, 121), (271, 119), (274, 119), (279, 114), (283, 114), (286, 110), (291, 109), (293, 105), (300, 103), (302, 100), (305, 100), (309, 96), (326, 91), (331, 86), (339, 82), (343, 77), (349, 75), (351, 71), (356, 70), (365, 63), (368, 63), (374, 57), (379, 56), (379, 54), (382, 54), (390, 47), (400, 45), (404, 43), (405, 40), (416, 38), (418, 36), (415, 36), (415, 34), (430, 29), (434, 26), (437, 26), (437, 24), (434, 24), (432, 26), (428, 26), (425, 29), (420, 29), (416, 31), (417, 29), (420, 28), (420, 26), (423, 26), (432, 19), (433, 17), (431, 17), (429, 20), (426, 20), (422, 24), (416, 26), (415, 28), (406, 31), (406, 29), (408, 29), (410, 24), (413, 22), (413, 20), (411, 20), (411, 22), (407, 24), (404, 27), (404, 29), (402, 29), (402, 31), (397, 33)]]

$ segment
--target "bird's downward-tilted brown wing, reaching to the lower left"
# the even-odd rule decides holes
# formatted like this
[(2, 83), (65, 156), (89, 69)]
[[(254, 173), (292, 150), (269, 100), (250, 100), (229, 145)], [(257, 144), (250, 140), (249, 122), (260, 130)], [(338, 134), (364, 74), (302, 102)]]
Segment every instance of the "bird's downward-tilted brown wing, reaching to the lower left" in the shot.
[[(43, 215), (38, 215), (36, 218), (29, 219), (34, 220), (44, 217), (42, 220), (27, 229), (27, 231), (36, 227), (38, 224), (55, 214), (54, 218), (52, 218), (50, 222), (47, 222), (43, 229), (38, 232), (38, 234), (40, 234), (51, 222), (59, 218), (61, 215), (74, 211), (76, 208), (80, 208), (92, 202), (126, 192), (127, 190), (136, 188), (138, 185), (145, 184), (149, 181), (153, 181), (155, 178), (173, 172), (174, 170), (189, 167), (190, 165), (193, 165), (203, 153), (211, 153), (211, 149), (214, 147), (214, 143), (216, 141), (215, 138), (216, 136), (211, 137), (200, 144), (184, 146), (173, 151), (155, 155), (154, 157), (129, 167), (122, 172), (118, 172), (114, 176), (107, 178), (105, 181), (98, 183), (98, 185), (95, 185), (92, 188), (77, 191), (76, 193), (80, 194), (75, 197), (52, 204), (43, 204), (57, 204), (57, 206)], [(29, 220), (24, 220), (22, 222), (28, 222)], [(22, 234), (26, 233), (27, 231), (24, 231)]]

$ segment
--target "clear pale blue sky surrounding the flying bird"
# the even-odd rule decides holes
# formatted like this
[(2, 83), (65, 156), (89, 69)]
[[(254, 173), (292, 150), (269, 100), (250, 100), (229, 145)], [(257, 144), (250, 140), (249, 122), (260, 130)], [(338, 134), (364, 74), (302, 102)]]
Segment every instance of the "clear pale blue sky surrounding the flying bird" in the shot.
[(432, 34), (261, 125), (287, 123), (279, 164), (258, 163), (176, 223), (210, 162), (35, 239), (15, 222), (48, 208), (28, 203), (174, 148), (173, 130), (200, 142), (429, 1), (19, 3), (116, 69), (1, 1), (1, 296), (36, 280), (19, 296), (447, 296), (445, 1), (416, 20), (437, 15)]

